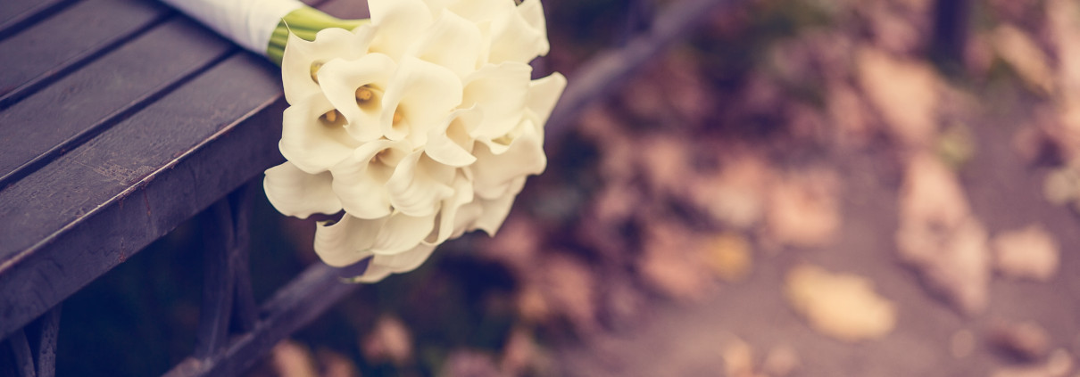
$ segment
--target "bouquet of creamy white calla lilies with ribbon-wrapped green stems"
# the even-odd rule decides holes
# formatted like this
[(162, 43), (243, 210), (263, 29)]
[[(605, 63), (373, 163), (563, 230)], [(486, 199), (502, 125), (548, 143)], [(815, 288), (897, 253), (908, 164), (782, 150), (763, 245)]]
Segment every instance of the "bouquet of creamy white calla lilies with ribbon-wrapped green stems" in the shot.
[(494, 235), (546, 166), (544, 123), (566, 79), (530, 80), (548, 53), (539, 0), (368, 0), (370, 19), (295, 0), (165, 0), (282, 68), (287, 162), (264, 187), (320, 222), (330, 266), (356, 281), (418, 267), (465, 232)]

